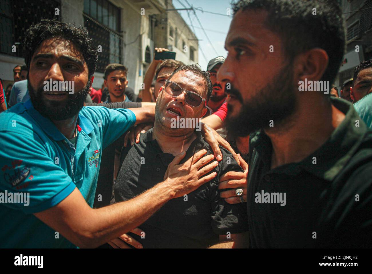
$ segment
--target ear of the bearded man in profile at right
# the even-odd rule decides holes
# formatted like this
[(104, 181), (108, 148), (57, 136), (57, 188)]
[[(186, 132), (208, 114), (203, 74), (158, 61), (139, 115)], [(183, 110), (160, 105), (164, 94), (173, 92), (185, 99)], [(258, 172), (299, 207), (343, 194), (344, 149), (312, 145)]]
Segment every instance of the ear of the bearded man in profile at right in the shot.
[(328, 66), (329, 57), (322, 48), (312, 48), (296, 57), (296, 79), (298, 81), (319, 81)]

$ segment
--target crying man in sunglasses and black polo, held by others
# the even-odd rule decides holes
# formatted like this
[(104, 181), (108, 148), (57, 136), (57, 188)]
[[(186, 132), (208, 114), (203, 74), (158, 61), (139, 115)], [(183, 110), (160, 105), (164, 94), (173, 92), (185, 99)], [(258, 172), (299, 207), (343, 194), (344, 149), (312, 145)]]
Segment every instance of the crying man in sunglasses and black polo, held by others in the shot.
[[(161, 182), (168, 165), (180, 152), (186, 151), (183, 161), (202, 149), (212, 153), (196, 124), (174, 123), (190, 118), (199, 122), (206, 113), (211, 92), (209, 73), (198, 66), (174, 70), (158, 96), (153, 129), (141, 134), (138, 144), (122, 151), (124, 161), (115, 183), (116, 202), (134, 198)], [(244, 243), (246, 204), (228, 204), (218, 190), (220, 175), (243, 169), (230, 152), (222, 147), (221, 151), (226, 160), (212, 170), (217, 172), (215, 179), (168, 202), (141, 224), (145, 237), (132, 234), (144, 248), (206, 248), (219, 241), (230, 242), (225, 245), (232, 245), (232, 241)]]

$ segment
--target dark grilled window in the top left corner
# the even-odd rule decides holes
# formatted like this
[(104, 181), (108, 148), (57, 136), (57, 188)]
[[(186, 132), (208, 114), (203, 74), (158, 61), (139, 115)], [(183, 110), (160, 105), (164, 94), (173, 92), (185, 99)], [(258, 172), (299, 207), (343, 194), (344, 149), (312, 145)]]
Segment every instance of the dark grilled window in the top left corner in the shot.
[[(55, 9), (60, 10), (55, 15)], [(60, 21), (61, 4), (54, 0), (1, 0), (0, 1), (0, 53), (23, 57), (23, 39), (27, 29), (41, 19)], [(13, 45), (16, 52), (13, 52)]]

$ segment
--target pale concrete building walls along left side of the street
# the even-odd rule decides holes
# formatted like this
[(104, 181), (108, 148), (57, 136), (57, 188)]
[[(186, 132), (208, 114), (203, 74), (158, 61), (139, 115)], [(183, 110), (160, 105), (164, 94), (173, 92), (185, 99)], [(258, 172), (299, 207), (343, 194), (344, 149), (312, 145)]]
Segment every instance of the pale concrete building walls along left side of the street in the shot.
[[(186, 64), (198, 61), (198, 41), (189, 26), (178, 12), (166, 12), (165, 9), (173, 9), (174, 6), (168, 0), (110, 0), (112, 4), (121, 9), (121, 33), (122, 33), (122, 63), (128, 67), (128, 86), (137, 94), (141, 88), (144, 74), (149, 63), (145, 62), (145, 51), (148, 47), (151, 60), (154, 57), (154, 47), (168, 47), (176, 51), (176, 59)], [(141, 8), (144, 14), (141, 14)], [(61, 21), (75, 23), (78, 27), (84, 26), (84, 0), (61, 0)], [(150, 17), (153, 16), (153, 40), (149, 34)], [(169, 40), (169, 27), (179, 30), (177, 45)], [(190, 41), (190, 39), (192, 39)], [(183, 41), (186, 47), (183, 48)], [(194, 61), (190, 60), (190, 47), (195, 48)], [(102, 50), (105, 50), (102, 48)], [(106, 49), (107, 50), (107, 49)], [(0, 54), (0, 78), (13, 81), (13, 67), (24, 63), (23, 58)], [(94, 73), (93, 87), (101, 88), (103, 73)]]

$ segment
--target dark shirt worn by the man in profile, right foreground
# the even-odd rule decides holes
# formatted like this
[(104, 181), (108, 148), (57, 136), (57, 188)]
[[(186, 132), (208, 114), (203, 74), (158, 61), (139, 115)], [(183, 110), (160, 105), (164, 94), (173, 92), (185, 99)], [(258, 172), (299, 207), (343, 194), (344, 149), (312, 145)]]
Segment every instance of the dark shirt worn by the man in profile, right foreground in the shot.
[[(345, 119), (299, 163), (270, 169), (269, 137), (262, 130), (251, 134), (247, 198), (251, 247), (372, 246), (372, 132), (352, 104), (332, 97), (331, 103), (346, 114)], [(266, 192), (286, 193), (285, 205)]]

